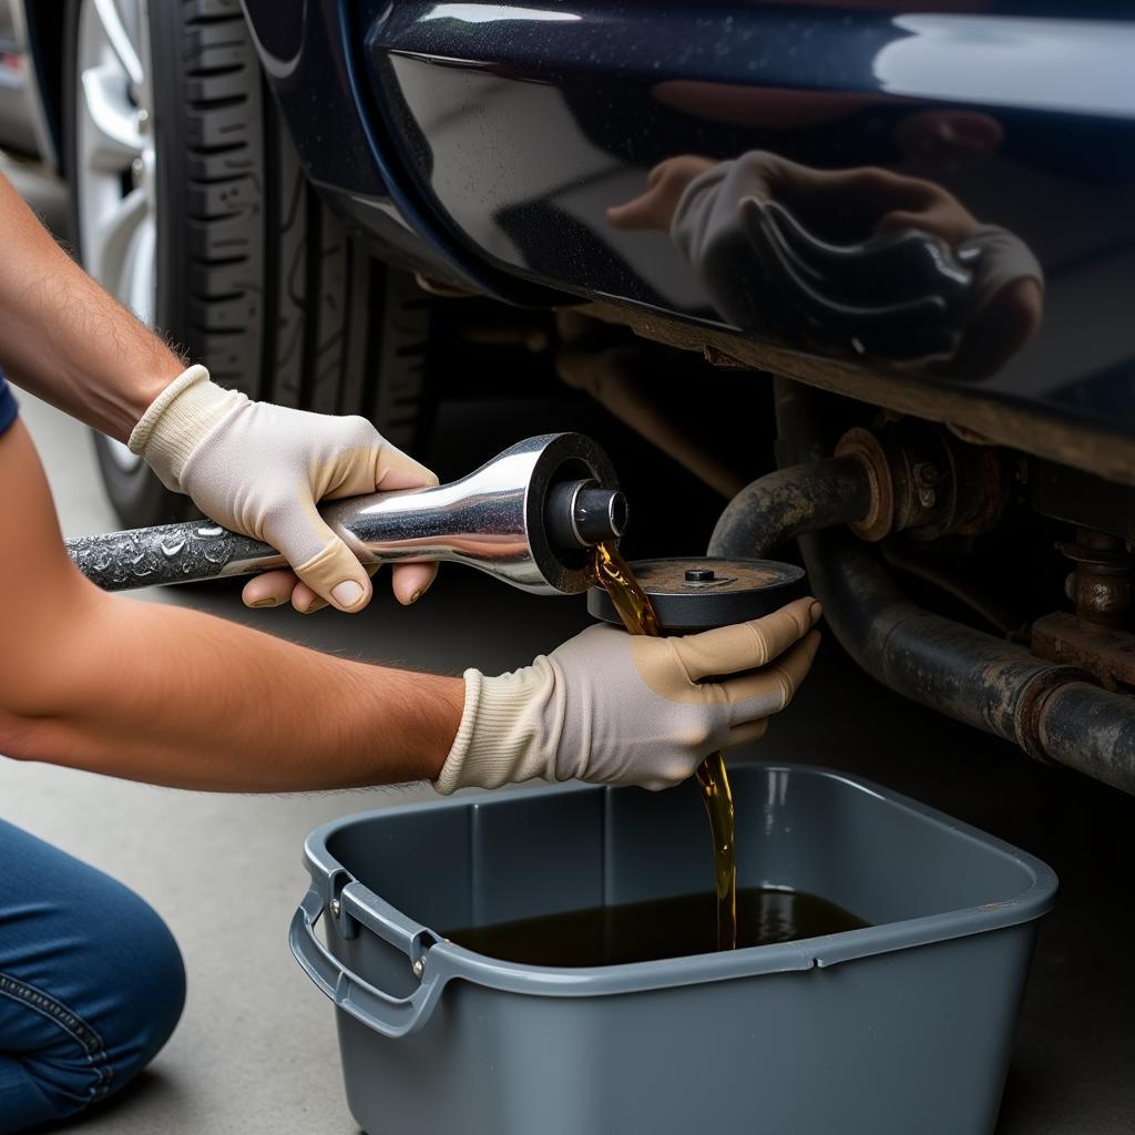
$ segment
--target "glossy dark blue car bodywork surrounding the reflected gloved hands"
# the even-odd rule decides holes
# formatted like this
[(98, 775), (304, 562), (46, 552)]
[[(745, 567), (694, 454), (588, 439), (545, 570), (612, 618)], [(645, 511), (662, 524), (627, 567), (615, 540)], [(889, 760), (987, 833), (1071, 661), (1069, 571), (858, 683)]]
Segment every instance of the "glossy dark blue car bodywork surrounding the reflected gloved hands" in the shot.
[[(910, 381), (1135, 434), (1129, 6), (245, 2), (312, 176), (418, 263), (521, 302), (721, 323), (669, 238), (615, 233), (605, 208), (683, 153), (878, 166), (1010, 229), (1046, 277), (1040, 330), (1004, 367), (910, 364)], [(844, 106), (777, 119), (771, 92)], [(943, 109), (995, 124), (997, 145), (919, 146), (915, 116)], [(768, 337), (815, 353), (793, 335)]]

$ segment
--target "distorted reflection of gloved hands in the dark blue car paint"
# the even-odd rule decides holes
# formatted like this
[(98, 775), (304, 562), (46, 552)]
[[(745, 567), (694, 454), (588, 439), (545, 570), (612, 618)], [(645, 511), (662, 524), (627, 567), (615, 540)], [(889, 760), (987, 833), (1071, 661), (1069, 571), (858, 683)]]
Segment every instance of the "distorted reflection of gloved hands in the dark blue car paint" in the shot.
[(877, 166), (670, 158), (607, 220), (669, 234), (726, 322), (809, 350), (973, 379), (1041, 321), (1043, 272), (1023, 241), (933, 182)]

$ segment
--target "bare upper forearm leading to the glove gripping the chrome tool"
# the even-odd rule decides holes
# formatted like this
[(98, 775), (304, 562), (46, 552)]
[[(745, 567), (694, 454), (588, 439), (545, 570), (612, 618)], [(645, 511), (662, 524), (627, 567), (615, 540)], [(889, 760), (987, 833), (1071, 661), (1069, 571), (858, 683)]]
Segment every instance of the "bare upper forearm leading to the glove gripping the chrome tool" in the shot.
[(0, 176), (0, 359), (9, 378), (125, 442), (185, 363), (54, 242)]

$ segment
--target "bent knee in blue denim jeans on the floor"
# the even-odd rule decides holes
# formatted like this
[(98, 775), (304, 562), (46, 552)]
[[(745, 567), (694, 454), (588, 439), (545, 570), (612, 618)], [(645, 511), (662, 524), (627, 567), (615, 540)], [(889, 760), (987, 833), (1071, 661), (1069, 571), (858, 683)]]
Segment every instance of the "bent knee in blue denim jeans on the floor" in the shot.
[(177, 944), (142, 899), (0, 821), (0, 1135), (117, 1092), (184, 1001)]

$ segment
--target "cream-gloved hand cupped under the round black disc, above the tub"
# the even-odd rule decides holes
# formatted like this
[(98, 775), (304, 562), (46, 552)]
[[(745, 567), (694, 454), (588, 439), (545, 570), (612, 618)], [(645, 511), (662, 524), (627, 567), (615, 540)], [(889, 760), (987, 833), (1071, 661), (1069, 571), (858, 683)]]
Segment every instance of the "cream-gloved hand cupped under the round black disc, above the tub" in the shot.
[[(498, 678), (465, 672), (442, 793), (541, 776), (669, 788), (715, 749), (762, 737), (812, 666), (815, 599), (679, 638), (590, 627)], [(732, 675), (732, 676), (730, 676)]]

